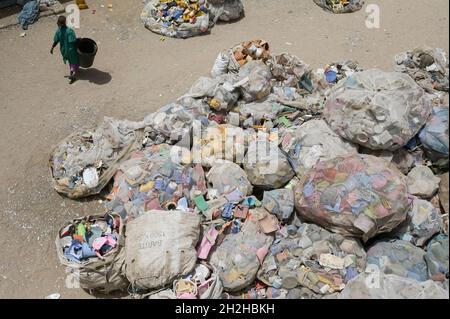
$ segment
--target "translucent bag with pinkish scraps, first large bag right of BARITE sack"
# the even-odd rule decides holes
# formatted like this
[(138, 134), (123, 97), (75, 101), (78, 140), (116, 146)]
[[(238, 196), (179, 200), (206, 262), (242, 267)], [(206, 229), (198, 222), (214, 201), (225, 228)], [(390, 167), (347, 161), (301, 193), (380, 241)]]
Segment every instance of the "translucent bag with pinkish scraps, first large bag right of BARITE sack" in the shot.
[(256, 278), (273, 236), (264, 234), (259, 224), (247, 219), (237, 234), (229, 234), (215, 246), (210, 263), (219, 275), (225, 291), (239, 291)]

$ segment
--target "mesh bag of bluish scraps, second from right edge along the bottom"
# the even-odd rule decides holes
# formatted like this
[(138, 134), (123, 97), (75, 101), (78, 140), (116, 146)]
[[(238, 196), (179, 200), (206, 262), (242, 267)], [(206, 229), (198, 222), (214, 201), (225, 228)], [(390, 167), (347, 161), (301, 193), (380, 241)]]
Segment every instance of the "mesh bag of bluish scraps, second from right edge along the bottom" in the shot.
[(428, 280), (424, 257), (424, 250), (404, 240), (378, 242), (367, 250), (368, 265), (374, 265), (377, 270), (386, 274), (417, 281)]

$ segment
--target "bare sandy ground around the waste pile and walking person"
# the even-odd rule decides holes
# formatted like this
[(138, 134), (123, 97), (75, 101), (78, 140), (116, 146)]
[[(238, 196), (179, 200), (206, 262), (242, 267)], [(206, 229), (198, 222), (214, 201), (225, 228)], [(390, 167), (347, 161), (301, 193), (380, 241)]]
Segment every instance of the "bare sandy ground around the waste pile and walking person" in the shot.
[[(88, 0), (78, 36), (97, 41), (94, 68), (69, 85), (59, 51), (49, 49), (54, 17), (0, 30), (0, 297), (91, 298), (65, 285), (54, 239), (76, 216), (103, 212), (99, 198), (73, 201), (50, 185), (52, 145), (103, 116), (141, 119), (185, 93), (209, 72), (219, 51), (264, 38), (274, 52), (290, 52), (320, 67), (351, 58), (365, 68), (391, 70), (396, 53), (418, 45), (448, 51), (447, 0), (368, 0), (379, 4), (381, 28), (367, 29), (364, 10), (322, 11), (312, 0), (244, 0), (246, 17), (188, 40), (166, 39), (139, 21), (140, 0)], [(100, 4), (112, 3), (113, 11)]]

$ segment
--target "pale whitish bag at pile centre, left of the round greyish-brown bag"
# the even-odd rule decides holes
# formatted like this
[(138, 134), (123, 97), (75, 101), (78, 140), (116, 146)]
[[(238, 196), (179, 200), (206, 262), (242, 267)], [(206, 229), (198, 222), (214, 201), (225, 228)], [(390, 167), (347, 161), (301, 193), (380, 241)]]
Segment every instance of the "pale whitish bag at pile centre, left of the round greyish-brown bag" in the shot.
[(232, 162), (214, 165), (206, 175), (206, 179), (212, 189), (217, 190), (218, 195), (231, 193), (235, 189), (239, 189), (244, 196), (250, 196), (253, 192), (253, 186), (248, 181), (245, 171)]

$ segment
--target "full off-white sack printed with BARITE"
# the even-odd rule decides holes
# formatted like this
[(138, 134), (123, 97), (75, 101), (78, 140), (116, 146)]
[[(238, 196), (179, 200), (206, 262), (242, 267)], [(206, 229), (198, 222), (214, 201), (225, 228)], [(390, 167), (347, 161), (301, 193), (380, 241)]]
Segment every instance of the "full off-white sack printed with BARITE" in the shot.
[(189, 274), (199, 235), (199, 216), (183, 211), (153, 210), (129, 222), (125, 269), (132, 287), (154, 290)]

